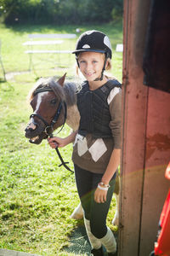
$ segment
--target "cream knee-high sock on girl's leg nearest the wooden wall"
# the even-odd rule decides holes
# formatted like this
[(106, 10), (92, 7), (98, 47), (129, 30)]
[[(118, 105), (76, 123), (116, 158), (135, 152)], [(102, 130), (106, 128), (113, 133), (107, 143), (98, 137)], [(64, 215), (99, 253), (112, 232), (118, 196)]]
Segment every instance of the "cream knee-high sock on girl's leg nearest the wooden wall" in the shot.
[(114, 255), (114, 253), (116, 255), (116, 240), (115, 240), (115, 236), (113, 235), (109, 227), (107, 227), (106, 235), (100, 238), (99, 240), (105, 246), (105, 249), (108, 255)]

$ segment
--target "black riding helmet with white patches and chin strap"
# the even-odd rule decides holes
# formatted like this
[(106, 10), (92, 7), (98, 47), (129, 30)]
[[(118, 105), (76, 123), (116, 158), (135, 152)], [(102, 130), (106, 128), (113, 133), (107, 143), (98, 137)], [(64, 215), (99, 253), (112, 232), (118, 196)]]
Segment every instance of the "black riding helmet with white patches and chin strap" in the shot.
[[(84, 32), (82, 33), (80, 38), (78, 38), (76, 49), (72, 53), (76, 54), (77, 56), (79, 53), (85, 52), (85, 51), (105, 53), (105, 63), (106, 63), (107, 59), (111, 58), (111, 55), (112, 55), (111, 42), (103, 32), (99, 32), (96, 30)], [(101, 77), (95, 80), (103, 79), (105, 63), (101, 73)], [(78, 64), (78, 61), (77, 61), (77, 64)]]

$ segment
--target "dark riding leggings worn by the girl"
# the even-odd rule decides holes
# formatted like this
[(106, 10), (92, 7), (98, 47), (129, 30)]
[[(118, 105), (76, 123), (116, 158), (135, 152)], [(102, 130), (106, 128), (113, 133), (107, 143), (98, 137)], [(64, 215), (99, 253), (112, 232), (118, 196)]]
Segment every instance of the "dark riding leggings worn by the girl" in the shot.
[(78, 195), (82, 203), (85, 218), (90, 221), (91, 232), (95, 237), (102, 238), (107, 233), (106, 217), (114, 192), (116, 173), (111, 179), (111, 187), (108, 189), (105, 203), (97, 203), (94, 201), (94, 191), (101, 181), (103, 174), (88, 172), (75, 165), (75, 176)]

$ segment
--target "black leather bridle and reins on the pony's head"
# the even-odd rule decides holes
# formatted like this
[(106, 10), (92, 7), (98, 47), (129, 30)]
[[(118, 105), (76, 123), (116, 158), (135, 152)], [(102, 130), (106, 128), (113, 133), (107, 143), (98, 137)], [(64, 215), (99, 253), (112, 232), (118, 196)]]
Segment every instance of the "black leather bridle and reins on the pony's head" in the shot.
[[(50, 88), (50, 87), (37, 88), (37, 90), (34, 91), (33, 95), (36, 96), (37, 93), (43, 92), (43, 91), (54, 91), (54, 90), (52, 88)], [(54, 94), (55, 94), (55, 92), (54, 92)], [(57, 108), (57, 111), (54, 114), (54, 118), (52, 119), (51, 124), (48, 124), (48, 122), (45, 119), (43, 119), (42, 116), (40, 114), (38, 114), (38, 113), (32, 113), (31, 116), (30, 116), (30, 119), (34, 118), (35, 116), (38, 119), (41, 119), (42, 123), (45, 125), (44, 132), (48, 135), (48, 137), (54, 137), (54, 135), (53, 135), (54, 125), (56, 124), (57, 120), (59, 119), (59, 114), (61, 113), (63, 105), (64, 105), (64, 108), (65, 108), (65, 119), (64, 119), (64, 123), (63, 123), (61, 129), (59, 130), (59, 132), (60, 132), (63, 129), (63, 127), (65, 126), (65, 120), (66, 120), (66, 115), (67, 115), (67, 108), (66, 108), (66, 102), (65, 101), (60, 101), (59, 102), (59, 107)], [(68, 166), (66, 166), (66, 164), (68, 164), (69, 162), (65, 162), (63, 160), (61, 154), (59, 153), (58, 146), (56, 146), (55, 150), (56, 150), (56, 152), (57, 152), (57, 154), (59, 156), (59, 160), (61, 161), (61, 164), (59, 165), (59, 167), (60, 166), (65, 166), (65, 168), (68, 171), (71, 171), (71, 169)], [(71, 172), (73, 172), (73, 171), (71, 171)]]

